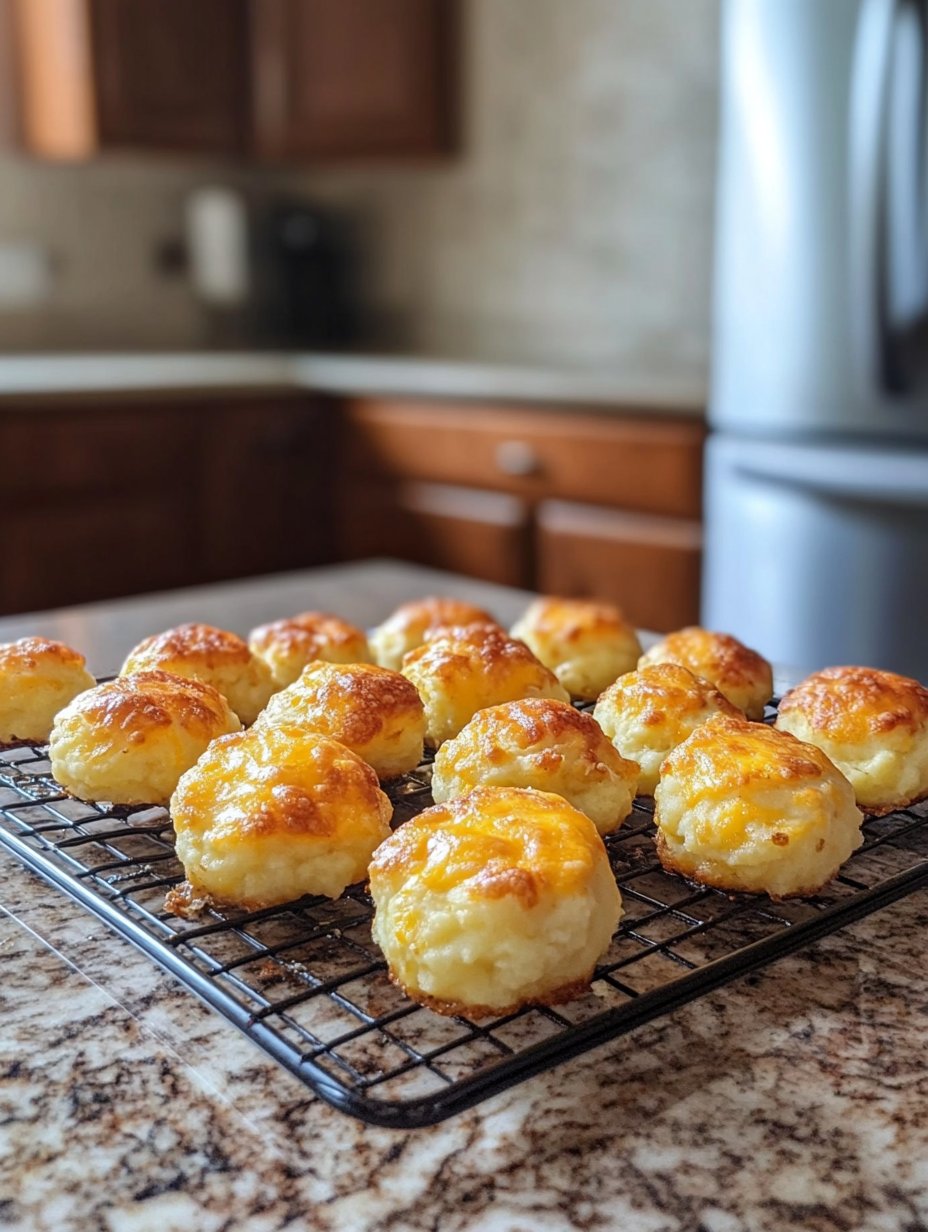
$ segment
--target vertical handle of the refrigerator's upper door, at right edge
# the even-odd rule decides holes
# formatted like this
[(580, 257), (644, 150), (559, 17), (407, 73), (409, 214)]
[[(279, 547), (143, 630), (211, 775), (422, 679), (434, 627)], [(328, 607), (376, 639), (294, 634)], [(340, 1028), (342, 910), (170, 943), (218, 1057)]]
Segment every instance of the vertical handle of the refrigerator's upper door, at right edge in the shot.
[(850, 79), (852, 329), (864, 391), (902, 398), (926, 379), (924, 0), (864, 0)]

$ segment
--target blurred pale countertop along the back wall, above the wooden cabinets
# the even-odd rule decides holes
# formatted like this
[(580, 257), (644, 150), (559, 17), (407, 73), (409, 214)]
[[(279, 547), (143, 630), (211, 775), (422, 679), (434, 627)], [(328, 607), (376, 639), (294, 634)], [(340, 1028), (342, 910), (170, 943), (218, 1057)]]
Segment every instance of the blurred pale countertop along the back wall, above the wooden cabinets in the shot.
[(667, 368), (642, 373), (365, 352), (0, 356), (0, 405), (57, 394), (216, 389), (474, 398), (694, 416), (706, 405), (699, 381)]

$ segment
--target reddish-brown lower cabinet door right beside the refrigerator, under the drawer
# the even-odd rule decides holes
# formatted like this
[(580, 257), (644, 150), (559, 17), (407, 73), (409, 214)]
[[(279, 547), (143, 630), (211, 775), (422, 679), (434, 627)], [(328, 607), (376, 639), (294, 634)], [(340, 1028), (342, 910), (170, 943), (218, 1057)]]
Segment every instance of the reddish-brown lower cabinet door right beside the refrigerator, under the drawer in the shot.
[(657, 632), (699, 620), (699, 522), (547, 500), (536, 525), (540, 590), (610, 600)]

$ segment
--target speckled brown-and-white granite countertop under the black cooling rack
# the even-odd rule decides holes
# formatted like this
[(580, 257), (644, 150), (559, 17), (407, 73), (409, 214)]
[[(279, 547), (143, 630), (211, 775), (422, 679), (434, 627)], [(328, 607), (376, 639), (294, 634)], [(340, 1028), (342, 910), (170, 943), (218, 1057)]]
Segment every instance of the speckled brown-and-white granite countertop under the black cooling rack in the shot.
[[(179, 615), (364, 623), (454, 591), (410, 565), (0, 621), (102, 671)], [(0, 856), (0, 1223), (15, 1228), (916, 1232), (928, 1226), (928, 898), (912, 896), (431, 1129), (320, 1103), (148, 958)]]

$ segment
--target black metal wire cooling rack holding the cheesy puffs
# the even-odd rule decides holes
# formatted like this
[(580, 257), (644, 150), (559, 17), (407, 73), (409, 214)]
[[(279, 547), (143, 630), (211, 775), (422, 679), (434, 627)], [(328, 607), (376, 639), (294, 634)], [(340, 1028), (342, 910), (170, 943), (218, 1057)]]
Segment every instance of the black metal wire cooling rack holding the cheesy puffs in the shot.
[[(391, 788), (397, 821), (431, 803), (430, 772)], [(323, 1099), (397, 1129), (440, 1121), (928, 885), (928, 806), (864, 832), (824, 893), (774, 903), (664, 872), (638, 802), (606, 839), (625, 917), (589, 993), (471, 1021), (421, 1009), (389, 982), (359, 887), (335, 902), (170, 915), (164, 896), (182, 870), (165, 809), (73, 800), (51, 779), (43, 747), (0, 747), (0, 841)]]

